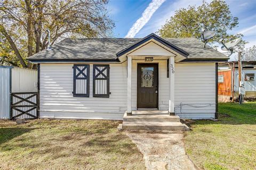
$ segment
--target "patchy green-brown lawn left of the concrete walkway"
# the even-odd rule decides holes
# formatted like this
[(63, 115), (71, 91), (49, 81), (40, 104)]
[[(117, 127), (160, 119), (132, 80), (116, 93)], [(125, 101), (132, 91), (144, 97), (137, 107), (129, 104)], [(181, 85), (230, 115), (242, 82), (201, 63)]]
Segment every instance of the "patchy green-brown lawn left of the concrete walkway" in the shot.
[(0, 169), (145, 169), (120, 121), (0, 121)]

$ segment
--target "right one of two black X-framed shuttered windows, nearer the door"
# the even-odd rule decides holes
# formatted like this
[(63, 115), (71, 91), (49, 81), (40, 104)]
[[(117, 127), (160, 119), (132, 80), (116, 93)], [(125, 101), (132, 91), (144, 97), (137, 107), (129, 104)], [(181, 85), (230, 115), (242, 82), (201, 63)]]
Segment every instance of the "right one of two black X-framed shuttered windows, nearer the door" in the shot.
[(93, 65), (93, 97), (109, 97), (109, 65)]

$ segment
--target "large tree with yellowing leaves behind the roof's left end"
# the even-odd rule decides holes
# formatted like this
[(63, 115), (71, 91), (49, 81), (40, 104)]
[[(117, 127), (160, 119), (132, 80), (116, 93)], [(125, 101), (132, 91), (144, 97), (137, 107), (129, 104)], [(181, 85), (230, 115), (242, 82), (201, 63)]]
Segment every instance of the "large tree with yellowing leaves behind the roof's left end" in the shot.
[(16, 58), (17, 65), (31, 68), (26, 58), (47, 48), (46, 29), (51, 32), (51, 45), (65, 37), (111, 36), (114, 23), (107, 15), (107, 3), (108, 0), (0, 0), (0, 38), (4, 46), (9, 46), (7, 51), (0, 47), (0, 61), (11, 63)]

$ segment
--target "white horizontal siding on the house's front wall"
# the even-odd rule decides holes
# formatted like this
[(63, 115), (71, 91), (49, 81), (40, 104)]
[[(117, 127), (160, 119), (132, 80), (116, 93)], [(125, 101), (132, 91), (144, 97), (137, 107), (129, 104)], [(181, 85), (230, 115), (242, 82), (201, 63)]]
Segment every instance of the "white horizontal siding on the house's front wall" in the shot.
[[(132, 110), (137, 109), (138, 63), (145, 62), (132, 61)], [(158, 63), (158, 107), (167, 110), (166, 60), (150, 63)], [(127, 109), (126, 64), (109, 64), (109, 98), (92, 97), (93, 64), (90, 64), (90, 98), (73, 97), (73, 64), (41, 64), (40, 117), (122, 120)], [(189, 107), (182, 106), (182, 114), (179, 114), (181, 104), (189, 104)], [(184, 118), (214, 118), (215, 64), (175, 64), (175, 113)]]

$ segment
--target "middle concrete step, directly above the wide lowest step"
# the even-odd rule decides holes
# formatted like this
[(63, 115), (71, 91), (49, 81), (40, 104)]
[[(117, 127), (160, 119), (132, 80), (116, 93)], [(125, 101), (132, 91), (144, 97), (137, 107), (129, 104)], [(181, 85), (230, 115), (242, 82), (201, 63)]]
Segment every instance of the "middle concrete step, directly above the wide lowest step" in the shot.
[(180, 122), (179, 116), (169, 115), (136, 115), (124, 116), (124, 122)]

